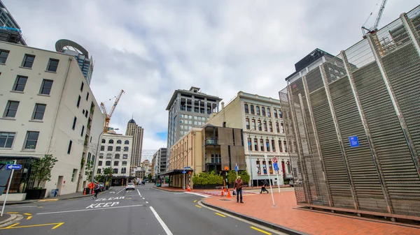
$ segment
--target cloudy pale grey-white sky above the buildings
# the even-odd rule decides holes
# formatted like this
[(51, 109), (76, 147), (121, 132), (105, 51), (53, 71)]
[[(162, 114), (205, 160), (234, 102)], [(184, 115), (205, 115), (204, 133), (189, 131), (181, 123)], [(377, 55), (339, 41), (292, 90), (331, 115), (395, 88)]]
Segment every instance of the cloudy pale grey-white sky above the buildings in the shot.
[[(381, 0), (2, 0), (27, 44), (55, 50), (69, 39), (93, 56), (90, 84), (125, 134), (134, 116), (144, 149), (167, 144), (176, 89), (197, 86), (225, 103), (239, 91), (279, 98), (295, 63), (320, 48), (339, 54), (373, 26)], [(419, 5), (388, 0), (379, 28)], [(111, 99), (111, 100), (110, 100)]]

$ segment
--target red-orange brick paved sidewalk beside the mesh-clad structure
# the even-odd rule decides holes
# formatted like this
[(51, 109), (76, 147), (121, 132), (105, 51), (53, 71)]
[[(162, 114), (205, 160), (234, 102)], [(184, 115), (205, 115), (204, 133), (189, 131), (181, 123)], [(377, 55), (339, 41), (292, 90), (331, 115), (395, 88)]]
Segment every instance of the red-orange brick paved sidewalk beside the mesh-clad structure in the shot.
[(293, 191), (274, 193), (276, 207), (272, 206), (271, 194), (244, 195), (244, 204), (237, 203), (236, 198), (221, 199), (210, 197), (204, 202), (306, 234), (420, 234), (420, 229), (414, 225), (296, 209), (298, 206)]

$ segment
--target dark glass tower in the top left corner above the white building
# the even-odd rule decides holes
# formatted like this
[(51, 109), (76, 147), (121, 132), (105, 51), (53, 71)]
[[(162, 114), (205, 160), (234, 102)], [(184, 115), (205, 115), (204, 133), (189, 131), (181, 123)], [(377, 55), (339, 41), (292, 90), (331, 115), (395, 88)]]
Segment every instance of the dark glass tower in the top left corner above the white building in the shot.
[(18, 22), (0, 0), (0, 41), (27, 45)]

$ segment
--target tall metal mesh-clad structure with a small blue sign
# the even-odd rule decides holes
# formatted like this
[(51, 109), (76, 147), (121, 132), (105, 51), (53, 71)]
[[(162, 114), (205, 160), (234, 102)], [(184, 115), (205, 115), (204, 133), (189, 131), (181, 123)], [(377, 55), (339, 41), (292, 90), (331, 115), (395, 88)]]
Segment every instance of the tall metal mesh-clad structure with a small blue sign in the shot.
[(420, 220), (420, 6), (279, 92), (297, 204)]

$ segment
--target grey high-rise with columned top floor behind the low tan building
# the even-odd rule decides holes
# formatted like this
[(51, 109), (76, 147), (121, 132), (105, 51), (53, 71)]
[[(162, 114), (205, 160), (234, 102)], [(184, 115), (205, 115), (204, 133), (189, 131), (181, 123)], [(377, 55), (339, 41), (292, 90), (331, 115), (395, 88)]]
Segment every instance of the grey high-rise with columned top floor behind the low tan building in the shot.
[[(167, 149), (170, 149), (191, 128), (203, 126), (209, 120), (210, 114), (218, 112), (221, 100), (217, 96), (200, 92), (200, 88), (194, 86), (191, 86), (189, 91), (183, 89), (174, 91), (167, 105), (169, 111)], [(167, 169), (169, 158), (168, 155)]]

